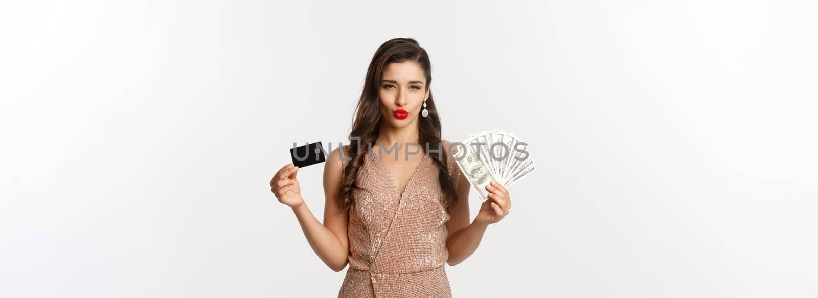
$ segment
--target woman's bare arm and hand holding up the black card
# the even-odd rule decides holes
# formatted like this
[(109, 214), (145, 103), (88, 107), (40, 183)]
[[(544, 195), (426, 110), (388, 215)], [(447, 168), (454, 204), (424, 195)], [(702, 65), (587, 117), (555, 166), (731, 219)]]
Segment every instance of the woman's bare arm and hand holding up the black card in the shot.
[(344, 177), (344, 169), (335, 149), (324, 163), (324, 224), (312, 215), (301, 198), (299, 183), (295, 180), (298, 168), (285, 165), (270, 183), (278, 201), (292, 208), (295, 218), (299, 220), (304, 236), (307, 237), (312, 251), (321, 258), (330, 269), (339, 272), (347, 265), (349, 240), (347, 238), (348, 211), (339, 210), (339, 188)]

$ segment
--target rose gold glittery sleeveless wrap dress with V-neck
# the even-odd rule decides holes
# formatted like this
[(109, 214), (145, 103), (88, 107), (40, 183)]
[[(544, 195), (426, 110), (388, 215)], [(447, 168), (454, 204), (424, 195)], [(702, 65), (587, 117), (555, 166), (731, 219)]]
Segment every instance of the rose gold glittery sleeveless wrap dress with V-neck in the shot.
[[(450, 144), (443, 140), (444, 149)], [(344, 157), (349, 150), (342, 148)], [(347, 232), (349, 269), (338, 296), (451, 297), (443, 269), (449, 214), (434, 155), (420, 161), (402, 194), (379, 156), (373, 147), (357, 174)], [(447, 159), (452, 182), (458, 183), (461, 171), (451, 154)]]

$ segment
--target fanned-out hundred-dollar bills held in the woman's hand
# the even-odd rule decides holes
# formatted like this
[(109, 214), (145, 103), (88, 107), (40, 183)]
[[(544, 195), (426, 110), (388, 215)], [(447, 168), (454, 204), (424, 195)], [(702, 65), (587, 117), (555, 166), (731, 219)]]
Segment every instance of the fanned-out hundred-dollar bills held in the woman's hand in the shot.
[(508, 188), (534, 171), (528, 143), (513, 133), (483, 131), (472, 134), (463, 144), (454, 147), (452, 157), (482, 201), (488, 199), (486, 185), (492, 180)]

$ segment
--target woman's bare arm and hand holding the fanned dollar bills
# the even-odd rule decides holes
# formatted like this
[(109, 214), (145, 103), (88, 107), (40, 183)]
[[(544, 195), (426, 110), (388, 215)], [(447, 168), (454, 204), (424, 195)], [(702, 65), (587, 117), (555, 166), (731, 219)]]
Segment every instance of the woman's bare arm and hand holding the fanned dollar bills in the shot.
[(452, 217), (446, 224), (449, 237), (446, 247), (449, 251), (449, 265), (460, 264), (469, 257), (486, 232), (489, 224), (495, 224), (509, 214), (511, 208), (511, 198), (506, 187), (495, 181), (486, 186), (488, 190), (488, 200), (480, 206), (480, 211), (474, 221), (469, 224), (469, 191), (471, 183), (465, 177), (461, 177), (461, 183), (457, 186), (457, 204), (452, 208)]

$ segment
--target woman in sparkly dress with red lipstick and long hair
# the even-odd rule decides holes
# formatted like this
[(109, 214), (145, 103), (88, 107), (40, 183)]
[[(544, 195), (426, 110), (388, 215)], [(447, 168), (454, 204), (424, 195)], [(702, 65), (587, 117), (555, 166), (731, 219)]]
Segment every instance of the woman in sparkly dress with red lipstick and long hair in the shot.
[(340, 297), (452, 296), (443, 263), (465, 260), (488, 224), (509, 213), (508, 191), (492, 182), (470, 224), (471, 186), (450, 154), (458, 147), (441, 139), (431, 83), (429, 56), (414, 39), (378, 48), (351, 143), (324, 165), (323, 224), (300, 195), (298, 167), (285, 165), (270, 182), (321, 260), (336, 272), (349, 264)]

